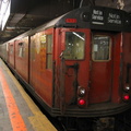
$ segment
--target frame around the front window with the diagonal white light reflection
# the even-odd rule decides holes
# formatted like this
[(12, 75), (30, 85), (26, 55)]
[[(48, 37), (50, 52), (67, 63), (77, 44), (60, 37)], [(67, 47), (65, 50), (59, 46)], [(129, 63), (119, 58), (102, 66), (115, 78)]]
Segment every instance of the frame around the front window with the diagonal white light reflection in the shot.
[[(82, 52), (82, 55), (80, 55), (80, 56), (82, 56), (82, 58), (76, 58), (76, 56), (75, 56), (75, 58), (73, 58), (73, 57), (71, 57), (71, 58), (68, 58), (68, 57), (67, 57), (67, 58), (66, 58), (67, 46), (69, 46), (69, 45), (67, 45), (67, 33), (72, 33), (72, 34), (73, 34), (74, 36), (76, 36), (78, 38), (84, 40), (83, 46), (82, 46), (83, 52)], [(79, 36), (78, 33), (83, 33), (83, 36), (84, 36), (84, 37)], [(82, 31), (67, 31), (67, 32), (64, 32), (64, 35), (66, 35), (66, 38), (64, 38), (64, 46), (66, 46), (66, 48), (64, 48), (64, 51), (63, 51), (63, 58), (64, 58), (66, 60), (84, 60), (84, 58), (85, 58), (85, 43), (86, 43), (86, 34), (85, 34), (85, 32), (82, 32)], [(75, 47), (76, 47), (76, 45), (75, 45)], [(79, 53), (80, 53), (80, 52), (79, 52)], [(68, 55), (67, 55), (67, 56), (68, 56)]]

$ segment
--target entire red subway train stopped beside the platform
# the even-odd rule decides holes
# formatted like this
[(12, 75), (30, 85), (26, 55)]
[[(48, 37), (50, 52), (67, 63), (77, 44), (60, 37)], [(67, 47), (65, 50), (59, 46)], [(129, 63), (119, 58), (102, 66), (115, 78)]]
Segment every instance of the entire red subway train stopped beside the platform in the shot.
[(88, 118), (107, 128), (131, 108), (131, 15), (124, 11), (75, 9), (0, 45), (0, 57), (69, 130), (87, 129)]

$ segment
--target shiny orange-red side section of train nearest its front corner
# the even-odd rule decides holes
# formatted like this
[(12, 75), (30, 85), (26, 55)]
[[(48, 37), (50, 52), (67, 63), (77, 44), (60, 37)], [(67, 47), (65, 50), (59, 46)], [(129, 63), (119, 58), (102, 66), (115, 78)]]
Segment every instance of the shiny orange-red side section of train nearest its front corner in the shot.
[(35, 93), (52, 105), (52, 48), (53, 29), (36, 33), (31, 37), (29, 84)]

